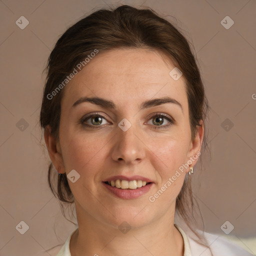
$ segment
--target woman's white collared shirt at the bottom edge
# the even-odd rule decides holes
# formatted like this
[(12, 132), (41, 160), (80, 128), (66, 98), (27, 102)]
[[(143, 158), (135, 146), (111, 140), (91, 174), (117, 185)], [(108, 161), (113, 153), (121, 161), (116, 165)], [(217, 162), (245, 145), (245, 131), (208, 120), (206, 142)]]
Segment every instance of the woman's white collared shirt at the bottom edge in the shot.
[[(201, 244), (194, 241), (190, 236), (186, 235), (185, 232), (176, 224), (174, 224), (179, 230), (184, 241), (184, 255), (183, 256), (210, 256), (208, 248), (205, 248)], [(71, 235), (76, 231), (73, 230), (67, 237), (65, 243), (59, 250), (56, 256), (71, 256), (69, 250), (69, 241)], [(252, 256), (253, 254), (239, 247), (235, 243), (227, 240), (226, 238), (204, 232), (204, 236), (207, 242), (210, 244), (210, 248), (213, 256)]]

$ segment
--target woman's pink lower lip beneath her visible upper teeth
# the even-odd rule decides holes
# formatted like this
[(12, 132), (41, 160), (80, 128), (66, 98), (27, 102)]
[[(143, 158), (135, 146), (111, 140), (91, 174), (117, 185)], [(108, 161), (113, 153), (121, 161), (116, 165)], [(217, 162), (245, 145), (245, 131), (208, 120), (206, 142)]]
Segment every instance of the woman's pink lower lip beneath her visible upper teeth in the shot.
[(117, 188), (115, 186), (108, 185), (104, 182), (102, 182), (103, 185), (113, 194), (116, 196), (122, 198), (122, 199), (134, 199), (137, 198), (146, 192), (149, 191), (150, 187), (152, 186), (153, 183), (149, 183), (145, 186), (138, 187), (136, 189), (121, 189)]

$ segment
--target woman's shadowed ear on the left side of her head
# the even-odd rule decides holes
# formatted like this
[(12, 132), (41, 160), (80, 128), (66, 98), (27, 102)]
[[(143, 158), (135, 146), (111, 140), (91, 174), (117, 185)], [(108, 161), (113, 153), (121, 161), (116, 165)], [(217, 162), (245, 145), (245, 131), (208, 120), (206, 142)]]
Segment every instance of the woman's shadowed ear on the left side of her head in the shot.
[(60, 173), (64, 173), (64, 164), (59, 142), (52, 136), (51, 127), (49, 125), (47, 125), (44, 129), (44, 140), (48, 149), (49, 157), (55, 169)]

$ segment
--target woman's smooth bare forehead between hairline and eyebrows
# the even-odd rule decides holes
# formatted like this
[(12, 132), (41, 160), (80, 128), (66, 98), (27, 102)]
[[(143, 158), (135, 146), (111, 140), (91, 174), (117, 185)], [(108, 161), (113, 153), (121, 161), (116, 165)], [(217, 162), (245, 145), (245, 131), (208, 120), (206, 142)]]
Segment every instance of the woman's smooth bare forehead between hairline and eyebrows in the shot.
[(159, 51), (113, 49), (99, 52), (66, 85), (61, 104), (70, 107), (82, 96), (98, 96), (118, 105), (171, 96), (186, 104), (185, 80), (174, 80), (175, 65)]

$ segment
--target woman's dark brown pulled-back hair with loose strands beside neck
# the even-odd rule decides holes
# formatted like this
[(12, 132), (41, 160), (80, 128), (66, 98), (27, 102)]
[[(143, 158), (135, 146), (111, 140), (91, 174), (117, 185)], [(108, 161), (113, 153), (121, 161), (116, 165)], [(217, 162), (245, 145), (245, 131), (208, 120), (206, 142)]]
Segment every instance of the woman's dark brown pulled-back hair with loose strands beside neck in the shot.
[[(151, 8), (137, 9), (129, 5), (94, 11), (70, 26), (57, 40), (45, 68), (47, 77), (40, 110), (41, 127), (45, 128), (49, 125), (51, 135), (59, 139), (60, 102), (64, 88), (55, 93), (50, 100), (47, 95), (56, 89), (56, 85), (60, 84), (79, 62), (95, 49), (103, 52), (127, 47), (157, 50), (182, 71), (193, 140), (199, 126), (202, 125), (200, 120), (204, 121), (207, 116), (208, 102), (189, 42), (174, 25), (160, 17)], [(202, 148), (205, 149), (206, 146), (204, 133)], [(68, 185), (66, 173), (58, 175), (57, 192), (54, 190), (54, 183), (51, 180), (52, 167), (50, 163), (48, 184), (52, 193), (61, 202), (73, 203), (74, 197)], [(57, 175), (56, 171), (54, 175)], [(176, 197), (175, 212), (183, 218), (190, 229), (191, 221), (195, 220), (194, 201), (196, 202), (191, 190), (191, 177), (185, 175), (182, 188)], [(203, 238), (195, 230), (192, 231), (197, 237)]]

